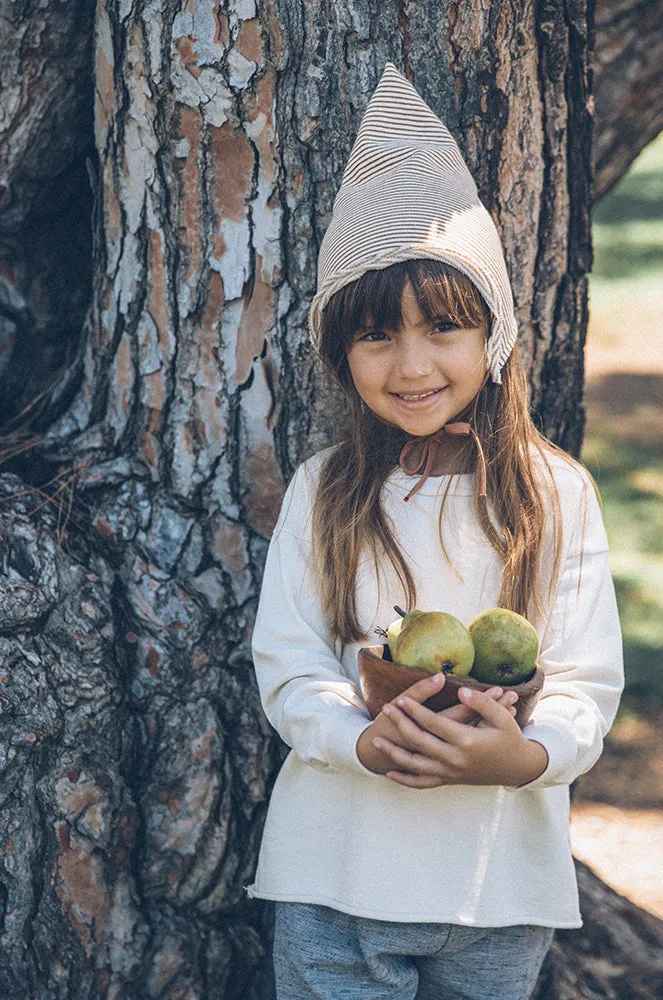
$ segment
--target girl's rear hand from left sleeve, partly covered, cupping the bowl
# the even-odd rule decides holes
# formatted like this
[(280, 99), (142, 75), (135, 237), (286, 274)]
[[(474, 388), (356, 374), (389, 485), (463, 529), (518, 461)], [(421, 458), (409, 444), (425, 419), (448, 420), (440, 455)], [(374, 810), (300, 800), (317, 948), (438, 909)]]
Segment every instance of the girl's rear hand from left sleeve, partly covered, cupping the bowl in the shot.
[[(444, 687), (444, 682), (446, 678), (444, 674), (432, 674), (430, 677), (425, 677), (421, 681), (417, 681), (413, 684), (402, 695), (401, 698), (409, 698), (417, 705), (423, 705), (423, 702), (427, 701), (433, 694)], [(504, 693), (501, 688), (494, 687), (486, 692), (487, 696), (496, 701), (500, 701), (501, 704), (509, 711), (515, 715), (515, 708), (511, 708), (514, 702), (514, 697), (512, 693)], [(394, 761), (391, 756), (382, 753), (376, 748), (374, 741), (376, 739), (384, 739), (388, 741), (393, 746), (399, 746), (403, 749), (415, 751), (417, 748), (409, 743), (401, 735), (401, 731), (398, 725), (392, 721), (389, 717), (389, 712), (391, 707), (395, 707), (396, 699), (390, 703), (389, 706), (385, 706), (382, 712), (376, 717), (376, 719), (368, 726), (367, 729), (359, 737), (357, 741), (357, 756), (362, 762), (364, 767), (367, 767), (370, 771), (375, 771), (378, 774), (386, 774), (388, 771), (392, 771), (394, 768)], [(447, 719), (451, 719), (455, 722), (466, 723), (467, 725), (485, 725), (482, 720), (481, 715), (476, 713), (473, 709), (466, 705), (452, 705), (451, 708), (446, 708), (442, 712), (431, 713), (433, 715), (443, 715)]]

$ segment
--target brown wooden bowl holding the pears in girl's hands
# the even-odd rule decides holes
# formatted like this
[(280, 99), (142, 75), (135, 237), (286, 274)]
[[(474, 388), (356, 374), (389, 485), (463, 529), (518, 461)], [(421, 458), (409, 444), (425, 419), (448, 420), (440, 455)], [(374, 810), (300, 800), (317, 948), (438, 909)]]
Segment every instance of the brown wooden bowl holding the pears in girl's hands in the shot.
[[(359, 650), (359, 685), (362, 697), (373, 719), (380, 714), (382, 706), (386, 702), (392, 701), (406, 688), (423, 680), (424, 677), (430, 677), (426, 670), (404, 667), (402, 663), (385, 660), (384, 650), (385, 646), (383, 645), (364, 646), (363, 649)], [(504, 685), (505, 689), (508, 687), (518, 695), (518, 701), (515, 705), (516, 722), (521, 729), (534, 711), (544, 679), (543, 670), (541, 667), (537, 667), (528, 681), (524, 681), (522, 684)], [(454, 677), (453, 674), (447, 674), (447, 680), (442, 690), (434, 694), (424, 704), (433, 712), (449, 708), (458, 703), (458, 689), (461, 687), (488, 691), (495, 685), (482, 684), (481, 681), (475, 681), (473, 677)]]

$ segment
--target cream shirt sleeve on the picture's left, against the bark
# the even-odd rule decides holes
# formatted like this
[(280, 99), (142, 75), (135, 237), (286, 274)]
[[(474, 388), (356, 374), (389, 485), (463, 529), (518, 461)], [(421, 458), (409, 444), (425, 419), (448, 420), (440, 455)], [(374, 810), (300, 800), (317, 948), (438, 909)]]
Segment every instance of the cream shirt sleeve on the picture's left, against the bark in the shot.
[(267, 553), (252, 652), (271, 725), (304, 762), (379, 777), (357, 757), (371, 718), (343, 673), (324, 620), (311, 553), (312, 476), (293, 477)]

